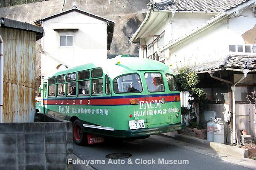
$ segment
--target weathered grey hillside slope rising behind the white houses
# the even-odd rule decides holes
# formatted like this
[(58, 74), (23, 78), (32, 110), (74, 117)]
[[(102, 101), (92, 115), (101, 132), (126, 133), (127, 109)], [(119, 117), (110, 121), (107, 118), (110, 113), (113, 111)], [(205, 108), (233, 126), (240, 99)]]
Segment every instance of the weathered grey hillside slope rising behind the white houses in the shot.
[[(3, 7), (0, 10), (0, 16), (35, 24), (35, 20), (69, 10), (73, 6), (74, 2), (74, 0), (48, 0), (37, 3)], [(78, 8), (86, 11), (87, 13), (93, 13), (94, 15), (115, 21), (115, 34), (113, 34), (111, 49), (107, 51), (108, 58), (115, 57), (119, 54), (138, 55), (137, 46), (128, 42), (128, 36), (131, 32), (136, 31), (140, 23), (144, 20), (147, 3), (148, 0), (129, 0), (123, 1), (122, 3), (117, 1), (113, 1), (112, 3), (102, 1), (101, 5), (99, 5), (98, 1), (93, 0), (80, 0), (79, 3), (76, 2)], [(104, 8), (102, 8), (103, 6)], [(19, 11), (19, 13), (17, 14), (16, 11)], [(38, 87), (41, 85), (41, 54), (42, 51), (45, 50), (42, 48), (42, 45), (41, 40), (37, 41), (35, 65), (35, 76), (37, 81), (35, 96), (39, 96)]]

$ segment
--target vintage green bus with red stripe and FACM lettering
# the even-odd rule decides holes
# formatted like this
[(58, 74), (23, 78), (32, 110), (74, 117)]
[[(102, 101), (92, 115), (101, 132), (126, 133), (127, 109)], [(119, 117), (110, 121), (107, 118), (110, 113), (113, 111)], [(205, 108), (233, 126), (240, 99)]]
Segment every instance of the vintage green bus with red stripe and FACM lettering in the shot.
[(59, 71), (43, 84), (36, 109), (73, 122), (76, 144), (90, 134), (136, 139), (185, 128), (174, 75), (162, 62), (120, 55)]

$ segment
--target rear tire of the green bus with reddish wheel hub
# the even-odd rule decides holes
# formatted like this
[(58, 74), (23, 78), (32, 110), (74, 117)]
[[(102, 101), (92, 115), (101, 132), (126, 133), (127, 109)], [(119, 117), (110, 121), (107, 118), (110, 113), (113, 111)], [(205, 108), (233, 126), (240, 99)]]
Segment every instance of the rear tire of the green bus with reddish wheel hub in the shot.
[(83, 132), (83, 126), (79, 119), (73, 122), (73, 140), (78, 145), (88, 144), (87, 133)]

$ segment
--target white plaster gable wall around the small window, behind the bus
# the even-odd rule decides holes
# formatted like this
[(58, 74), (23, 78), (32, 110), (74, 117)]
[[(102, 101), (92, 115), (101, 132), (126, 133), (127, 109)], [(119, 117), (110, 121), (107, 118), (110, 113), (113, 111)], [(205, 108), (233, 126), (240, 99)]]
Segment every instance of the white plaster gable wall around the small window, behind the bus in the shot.
[[(42, 23), (45, 35), (42, 40), (41, 75), (56, 71), (56, 66), (69, 68), (107, 59), (106, 23), (73, 11)], [(54, 28), (78, 28), (78, 31), (54, 31)], [(73, 35), (73, 47), (59, 47), (60, 35)]]

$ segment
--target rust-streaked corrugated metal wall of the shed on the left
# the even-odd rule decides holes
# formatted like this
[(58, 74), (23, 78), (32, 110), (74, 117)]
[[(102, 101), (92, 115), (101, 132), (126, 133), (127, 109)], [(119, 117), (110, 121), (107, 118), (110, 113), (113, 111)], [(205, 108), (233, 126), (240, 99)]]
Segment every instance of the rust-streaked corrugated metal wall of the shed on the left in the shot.
[(0, 28), (4, 41), (3, 122), (33, 122), (35, 33)]

